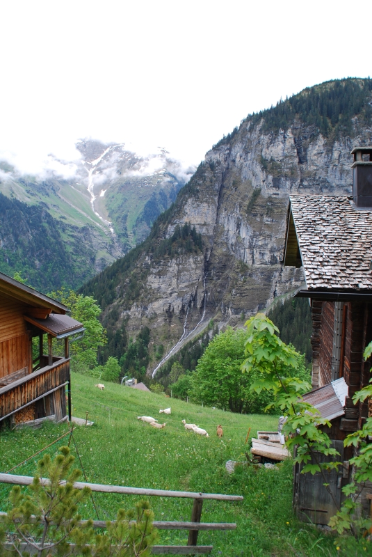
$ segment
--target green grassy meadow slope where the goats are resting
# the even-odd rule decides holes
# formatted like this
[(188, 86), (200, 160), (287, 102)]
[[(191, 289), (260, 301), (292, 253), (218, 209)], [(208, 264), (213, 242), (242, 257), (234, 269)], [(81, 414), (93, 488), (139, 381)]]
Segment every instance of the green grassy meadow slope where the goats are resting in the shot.
[[(279, 471), (252, 466), (238, 467), (232, 476), (225, 471), (227, 460), (244, 459), (248, 427), (252, 427), (252, 434), (273, 429), (277, 418), (230, 414), (118, 384), (108, 383), (102, 392), (94, 382), (82, 375), (72, 377), (74, 416), (85, 418), (88, 411), (89, 419), (95, 422), (93, 427), (78, 427), (74, 433), (88, 481), (243, 495), (243, 503), (204, 503), (202, 521), (236, 522), (238, 526), (232, 532), (200, 533), (200, 544), (213, 544), (212, 556), (320, 557), (338, 553), (332, 537), (325, 538), (318, 529), (298, 523), (293, 516), (291, 462), (284, 463)], [(172, 415), (159, 414), (159, 409), (167, 406), (172, 407)], [(136, 419), (142, 415), (159, 421), (164, 416), (167, 426), (155, 430)], [(211, 437), (186, 432), (181, 425), (183, 418), (205, 427)], [(218, 424), (225, 432), (222, 440), (216, 436)], [(66, 430), (66, 424), (49, 424), (40, 430), (1, 432), (1, 469), (8, 471)], [(71, 447), (76, 455), (74, 445)], [(51, 453), (54, 450), (50, 449)], [(14, 473), (29, 475), (33, 466), (31, 461)], [(0, 487), (0, 501), (3, 489)], [(95, 494), (94, 499), (100, 519), (113, 518), (118, 508), (129, 507), (136, 500), (115, 494)], [(190, 500), (152, 497), (150, 503), (156, 519), (191, 517)], [(83, 514), (94, 517), (92, 505), (84, 508)], [(186, 544), (186, 540), (186, 532), (161, 532), (164, 543)]]

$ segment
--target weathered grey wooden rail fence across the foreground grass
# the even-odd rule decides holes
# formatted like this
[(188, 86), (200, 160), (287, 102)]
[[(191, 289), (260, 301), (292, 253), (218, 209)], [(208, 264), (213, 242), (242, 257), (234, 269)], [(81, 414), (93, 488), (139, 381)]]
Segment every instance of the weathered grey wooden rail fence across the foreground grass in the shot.
[[(43, 485), (48, 485), (49, 480), (41, 478)], [(30, 485), (33, 482), (31, 476), (16, 476), (14, 474), (0, 473), (0, 483), (10, 483), (15, 485)], [(65, 482), (61, 482), (64, 484)], [(121, 493), (126, 495), (140, 496), (158, 496), (158, 497), (181, 497), (184, 499), (193, 499), (193, 508), (191, 510), (191, 521), (154, 521), (154, 526), (159, 530), (188, 530), (187, 546), (184, 545), (155, 545), (152, 547), (152, 554), (161, 555), (195, 555), (207, 554), (213, 549), (211, 545), (197, 545), (197, 535), (200, 531), (206, 530), (234, 530), (236, 524), (223, 522), (200, 522), (202, 517), (203, 501), (212, 499), (214, 501), (243, 501), (241, 495), (224, 495), (213, 493), (197, 493), (197, 492), (177, 492), (168, 491), (167, 489), (146, 489), (143, 487), (124, 487), (121, 485), (104, 485), (96, 483), (74, 483), (76, 489), (89, 487), (92, 492), (100, 493)], [(94, 528), (105, 528), (106, 521), (93, 521)], [(22, 548), (29, 551), (30, 548)]]

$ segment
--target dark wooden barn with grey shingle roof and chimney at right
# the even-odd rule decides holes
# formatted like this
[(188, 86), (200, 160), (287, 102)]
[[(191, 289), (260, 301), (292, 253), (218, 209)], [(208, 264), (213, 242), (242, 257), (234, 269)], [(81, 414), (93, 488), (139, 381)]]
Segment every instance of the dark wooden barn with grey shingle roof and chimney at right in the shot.
[[(284, 251), (284, 265), (303, 267), (305, 274), (306, 288), (296, 293), (312, 307), (314, 390), (305, 399), (332, 423), (325, 431), (344, 465), (328, 480), (339, 502), (352, 473), (353, 448), (343, 448), (343, 439), (369, 415), (367, 404), (353, 404), (353, 395), (371, 378), (363, 352), (372, 340), (372, 148), (352, 154), (353, 196), (290, 198)], [(337, 508), (321, 475), (310, 476), (296, 466), (295, 508), (301, 519), (327, 524)], [(366, 511), (371, 487), (361, 498)]]

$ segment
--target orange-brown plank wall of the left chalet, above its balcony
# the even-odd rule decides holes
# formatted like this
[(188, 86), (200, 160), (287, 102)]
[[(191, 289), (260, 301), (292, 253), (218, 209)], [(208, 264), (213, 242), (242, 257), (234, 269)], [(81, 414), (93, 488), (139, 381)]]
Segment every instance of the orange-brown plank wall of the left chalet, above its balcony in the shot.
[(23, 317), (28, 307), (0, 295), (0, 377), (25, 367), (32, 370), (31, 340)]

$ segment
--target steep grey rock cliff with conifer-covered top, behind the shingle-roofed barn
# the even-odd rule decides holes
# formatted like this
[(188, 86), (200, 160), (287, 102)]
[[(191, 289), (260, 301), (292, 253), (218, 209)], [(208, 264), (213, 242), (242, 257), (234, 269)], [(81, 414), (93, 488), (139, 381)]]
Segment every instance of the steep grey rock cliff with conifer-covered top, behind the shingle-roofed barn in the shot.
[[(113, 329), (124, 322), (133, 336), (148, 326), (168, 354), (211, 317), (236, 324), (300, 285), (302, 269), (281, 265), (289, 195), (350, 194), (350, 150), (372, 143), (371, 91), (369, 79), (330, 81), (243, 120), (131, 259), (86, 285), (104, 320), (115, 315)], [(203, 249), (160, 253), (185, 223)]]

